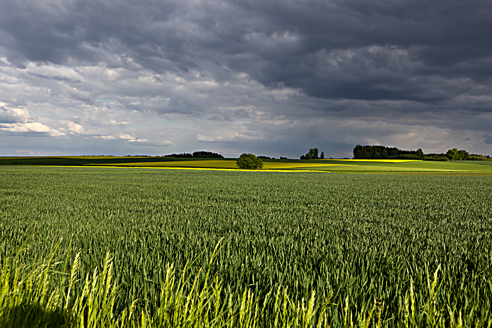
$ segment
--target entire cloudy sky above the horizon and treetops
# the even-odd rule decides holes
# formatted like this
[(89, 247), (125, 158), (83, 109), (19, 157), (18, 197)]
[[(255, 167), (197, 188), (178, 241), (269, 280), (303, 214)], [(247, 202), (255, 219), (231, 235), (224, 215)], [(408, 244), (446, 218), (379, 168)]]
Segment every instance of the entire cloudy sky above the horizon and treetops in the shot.
[(0, 0), (0, 155), (492, 155), (490, 0)]

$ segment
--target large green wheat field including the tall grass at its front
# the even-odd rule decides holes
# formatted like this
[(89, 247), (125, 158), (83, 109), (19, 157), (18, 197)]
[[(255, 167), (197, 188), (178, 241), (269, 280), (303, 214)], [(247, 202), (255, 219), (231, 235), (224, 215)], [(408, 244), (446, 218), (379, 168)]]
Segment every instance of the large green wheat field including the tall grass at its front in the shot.
[(491, 175), (2, 166), (0, 182), (0, 327), (492, 324)]

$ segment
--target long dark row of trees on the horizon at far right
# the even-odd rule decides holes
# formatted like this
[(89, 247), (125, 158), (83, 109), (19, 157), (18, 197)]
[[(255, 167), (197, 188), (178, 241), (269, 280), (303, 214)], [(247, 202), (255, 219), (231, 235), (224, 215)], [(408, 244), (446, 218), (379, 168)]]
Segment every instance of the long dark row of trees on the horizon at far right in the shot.
[(492, 161), (489, 155), (469, 154), (466, 150), (449, 149), (446, 153), (424, 154), (422, 149), (402, 150), (396, 147), (361, 146), (354, 148), (354, 159), (421, 159), (425, 161)]

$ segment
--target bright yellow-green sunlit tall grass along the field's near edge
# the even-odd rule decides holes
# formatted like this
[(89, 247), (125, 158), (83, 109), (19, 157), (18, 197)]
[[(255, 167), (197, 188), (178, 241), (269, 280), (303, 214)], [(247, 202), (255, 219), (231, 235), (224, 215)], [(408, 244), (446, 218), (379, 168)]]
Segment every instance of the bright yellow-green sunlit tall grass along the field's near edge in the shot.
[[(220, 242), (219, 242), (220, 243)], [(210, 256), (213, 261), (219, 243)], [(271, 291), (265, 298), (255, 296), (251, 290), (232, 293), (222, 286), (217, 276), (200, 279), (202, 269), (188, 272), (186, 267), (178, 274), (173, 265), (166, 268), (164, 283), (160, 287), (160, 302), (155, 304), (154, 313), (142, 306), (135, 311), (134, 300), (129, 307), (115, 313), (115, 301), (119, 297), (118, 286), (113, 281), (113, 263), (110, 253), (106, 254), (102, 272), (94, 269), (81, 276), (80, 253), (77, 253), (70, 272), (65, 272), (65, 262), (56, 262), (55, 254), (37, 264), (25, 265), (19, 260), (21, 249), (4, 259), (0, 284), (0, 327), (2, 328), (123, 328), (123, 327), (275, 327), (307, 328), (331, 327), (328, 309), (332, 305), (328, 298), (316, 298), (312, 291), (308, 299), (294, 301), (287, 287)], [(24, 246), (24, 245), (23, 245)], [(63, 271), (56, 271), (62, 264)], [(210, 265), (209, 265), (210, 268)], [(465, 304), (457, 308), (449, 298), (441, 294), (437, 274), (427, 274), (428, 289), (414, 291), (413, 280), (404, 298), (400, 299), (400, 311), (392, 321), (382, 321), (384, 302), (374, 298), (372, 304), (360, 308), (344, 300), (343, 323), (340, 327), (487, 327), (492, 325), (490, 309), (476, 311), (476, 304)], [(191, 289), (185, 292), (185, 284), (193, 276)], [(83, 280), (79, 290), (74, 283)]]

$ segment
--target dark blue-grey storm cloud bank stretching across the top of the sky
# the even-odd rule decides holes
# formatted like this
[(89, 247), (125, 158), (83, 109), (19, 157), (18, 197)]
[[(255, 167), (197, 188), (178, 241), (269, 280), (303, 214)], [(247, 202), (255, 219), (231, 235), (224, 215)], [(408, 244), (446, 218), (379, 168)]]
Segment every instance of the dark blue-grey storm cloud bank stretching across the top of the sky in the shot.
[(108, 51), (216, 80), (227, 66), (319, 98), (440, 103), (490, 91), (491, 1), (1, 3), (2, 43), (19, 64)]

